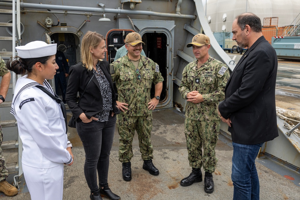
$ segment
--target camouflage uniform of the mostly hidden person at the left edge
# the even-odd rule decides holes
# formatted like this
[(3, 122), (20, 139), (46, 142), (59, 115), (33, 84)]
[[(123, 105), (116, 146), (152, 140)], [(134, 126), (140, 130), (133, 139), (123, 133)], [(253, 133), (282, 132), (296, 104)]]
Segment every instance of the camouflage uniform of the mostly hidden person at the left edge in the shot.
[[(4, 60), (0, 57), (1, 62), (0, 62), (0, 76), (4, 76), (6, 73), (9, 73), (9, 70), (5, 67), (5, 62)], [(2, 155), (2, 149), (1, 149), (1, 144), (3, 140), (3, 133), (2, 133), (2, 127), (0, 124), (0, 182), (3, 180), (6, 180), (8, 177), (8, 171), (6, 169), (5, 165), (5, 160)]]

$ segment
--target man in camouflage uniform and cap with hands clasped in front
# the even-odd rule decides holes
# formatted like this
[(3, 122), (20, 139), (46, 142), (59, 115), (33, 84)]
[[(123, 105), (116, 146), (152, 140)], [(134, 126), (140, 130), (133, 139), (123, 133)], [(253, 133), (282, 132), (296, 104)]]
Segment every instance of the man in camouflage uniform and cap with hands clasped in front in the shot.
[(212, 173), (217, 163), (214, 148), (220, 130), (217, 106), (225, 97), (224, 88), (229, 72), (225, 64), (209, 56), (209, 37), (196, 34), (192, 42), (187, 44), (187, 47), (191, 46), (197, 59), (184, 68), (179, 91), (182, 98), (187, 99), (184, 133), (192, 173), (182, 179), (180, 184), (190, 186), (195, 182), (201, 182), (203, 165), (204, 191), (212, 193), (214, 191)]

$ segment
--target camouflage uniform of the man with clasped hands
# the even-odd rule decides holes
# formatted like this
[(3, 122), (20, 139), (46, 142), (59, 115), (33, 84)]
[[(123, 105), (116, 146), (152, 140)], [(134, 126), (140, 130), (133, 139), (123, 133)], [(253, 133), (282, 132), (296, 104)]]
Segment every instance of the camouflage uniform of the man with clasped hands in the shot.
[(184, 68), (179, 91), (184, 99), (187, 93), (198, 91), (204, 101), (196, 104), (187, 102), (184, 133), (190, 166), (201, 168), (203, 165), (205, 172), (213, 173), (217, 163), (214, 148), (220, 131), (217, 107), (219, 101), (225, 98), (229, 72), (225, 64), (210, 56), (199, 69), (197, 62), (193, 61)]

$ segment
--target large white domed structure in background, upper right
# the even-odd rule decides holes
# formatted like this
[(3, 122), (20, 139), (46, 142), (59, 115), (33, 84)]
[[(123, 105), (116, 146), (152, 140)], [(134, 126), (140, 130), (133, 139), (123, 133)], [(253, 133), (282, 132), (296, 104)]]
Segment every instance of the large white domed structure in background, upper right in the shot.
[(277, 27), (290, 25), (300, 12), (299, 0), (202, 0), (202, 2), (206, 18), (210, 18), (209, 26), (213, 32), (231, 32), (234, 17), (245, 12), (259, 16), (262, 25), (264, 18), (278, 17)]

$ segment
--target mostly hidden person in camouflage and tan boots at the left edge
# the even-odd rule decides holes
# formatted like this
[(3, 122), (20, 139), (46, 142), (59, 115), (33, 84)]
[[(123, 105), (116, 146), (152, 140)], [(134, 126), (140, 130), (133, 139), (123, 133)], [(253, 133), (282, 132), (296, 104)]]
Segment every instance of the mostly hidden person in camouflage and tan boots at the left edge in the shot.
[[(10, 82), (10, 72), (5, 67), (4, 60), (0, 57), (0, 76), (1, 79), (1, 86), (0, 86), (0, 104), (5, 101), (5, 97), (9, 88), (9, 82)], [(3, 133), (2, 128), (0, 125), (0, 146), (2, 144), (3, 140)], [(18, 190), (16, 187), (13, 187), (10, 185), (6, 179), (8, 177), (8, 171), (6, 169), (5, 160), (2, 155), (2, 149), (0, 147), (0, 192), (3, 192), (6, 196), (15, 196), (18, 194)]]

